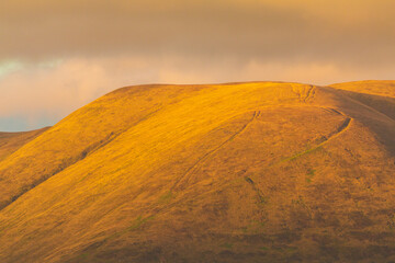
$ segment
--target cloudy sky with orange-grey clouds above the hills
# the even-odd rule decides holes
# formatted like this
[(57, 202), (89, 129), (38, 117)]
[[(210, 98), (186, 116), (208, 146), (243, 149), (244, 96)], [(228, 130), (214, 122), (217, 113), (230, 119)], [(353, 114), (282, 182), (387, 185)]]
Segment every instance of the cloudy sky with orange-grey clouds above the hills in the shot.
[(0, 130), (145, 83), (395, 79), (393, 0), (1, 0)]

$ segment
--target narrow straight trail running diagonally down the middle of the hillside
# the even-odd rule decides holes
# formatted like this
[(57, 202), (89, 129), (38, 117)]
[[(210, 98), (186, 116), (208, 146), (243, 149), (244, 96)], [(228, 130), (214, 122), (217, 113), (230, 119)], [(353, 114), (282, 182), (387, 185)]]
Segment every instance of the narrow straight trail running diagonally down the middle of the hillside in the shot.
[(232, 140), (234, 140), (237, 136), (239, 136), (242, 132), (245, 132), (247, 129), (247, 127), (256, 119), (258, 118), (260, 115), (260, 111), (255, 111), (252, 114), (252, 117), (250, 121), (248, 121), (238, 132), (236, 132), (234, 135), (232, 135), (228, 139), (226, 139), (224, 142), (222, 142), (219, 146), (215, 147), (214, 149), (210, 150), (208, 152), (206, 152), (203, 157), (201, 157), (191, 168), (189, 168), (187, 170), (187, 172), (181, 175), (176, 183), (173, 184), (173, 186), (170, 188), (170, 191), (174, 190), (174, 188), (179, 188), (184, 186), (191, 175), (196, 171), (196, 169), (199, 168), (200, 164), (202, 164), (204, 161), (206, 161), (210, 157), (212, 157), (215, 152), (217, 152), (221, 148), (223, 148), (225, 145), (227, 145), (228, 142), (230, 142)]

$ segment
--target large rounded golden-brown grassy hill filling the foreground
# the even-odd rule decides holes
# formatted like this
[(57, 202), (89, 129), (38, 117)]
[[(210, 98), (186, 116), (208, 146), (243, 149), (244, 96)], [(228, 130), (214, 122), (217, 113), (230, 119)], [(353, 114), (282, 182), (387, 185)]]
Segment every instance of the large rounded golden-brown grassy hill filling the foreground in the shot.
[(112, 92), (0, 161), (0, 262), (394, 261), (394, 104), (348, 92)]

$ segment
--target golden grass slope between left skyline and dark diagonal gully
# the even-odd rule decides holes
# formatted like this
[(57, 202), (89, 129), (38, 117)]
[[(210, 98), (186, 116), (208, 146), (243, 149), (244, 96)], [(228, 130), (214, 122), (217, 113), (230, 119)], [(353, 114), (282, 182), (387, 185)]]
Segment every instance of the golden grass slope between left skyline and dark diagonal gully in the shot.
[[(195, 88), (199, 90), (200, 88)], [(193, 94), (194, 88), (120, 89), (70, 114), (45, 136), (0, 162), (0, 208), (83, 159), (160, 107)], [(18, 176), (15, 176), (18, 174)]]

